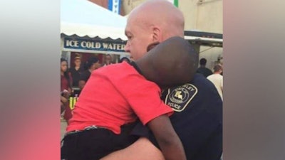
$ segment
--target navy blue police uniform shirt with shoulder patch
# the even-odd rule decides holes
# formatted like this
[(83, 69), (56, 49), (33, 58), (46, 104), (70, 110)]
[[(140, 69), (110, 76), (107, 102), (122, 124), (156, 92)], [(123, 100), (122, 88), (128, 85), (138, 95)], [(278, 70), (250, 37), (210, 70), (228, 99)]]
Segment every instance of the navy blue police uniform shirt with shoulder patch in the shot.
[[(187, 159), (218, 160), (222, 155), (222, 99), (212, 82), (196, 73), (191, 82), (164, 90), (162, 100), (175, 110), (170, 120)], [(142, 124), (133, 134), (148, 137), (158, 147)]]

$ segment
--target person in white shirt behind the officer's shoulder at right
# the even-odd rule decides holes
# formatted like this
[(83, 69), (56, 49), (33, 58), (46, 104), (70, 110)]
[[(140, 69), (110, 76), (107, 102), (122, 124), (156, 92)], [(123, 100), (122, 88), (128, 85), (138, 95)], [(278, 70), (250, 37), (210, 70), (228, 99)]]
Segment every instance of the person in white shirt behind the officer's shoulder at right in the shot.
[(209, 75), (207, 77), (208, 80), (210, 80), (212, 83), (214, 83), (214, 86), (217, 88), (219, 95), (221, 96), (222, 100), (222, 92), (223, 92), (223, 76), (222, 73), (222, 66), (221, 65), (215, 65), (214, 66), (214, 73), (212, 75)]

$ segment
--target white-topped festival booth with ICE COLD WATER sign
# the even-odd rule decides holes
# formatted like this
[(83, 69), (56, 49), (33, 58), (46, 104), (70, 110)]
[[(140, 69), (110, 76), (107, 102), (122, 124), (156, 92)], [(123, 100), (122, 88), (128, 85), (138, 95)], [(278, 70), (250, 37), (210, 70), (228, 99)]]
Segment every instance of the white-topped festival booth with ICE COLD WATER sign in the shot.
[(87, 0), (61, 0), (61, 57), (73, 65), (73, 58), (82, 61), (90, 56), (101, 62), (110, 54), (116, 63), (125, 53), (126, 18)]

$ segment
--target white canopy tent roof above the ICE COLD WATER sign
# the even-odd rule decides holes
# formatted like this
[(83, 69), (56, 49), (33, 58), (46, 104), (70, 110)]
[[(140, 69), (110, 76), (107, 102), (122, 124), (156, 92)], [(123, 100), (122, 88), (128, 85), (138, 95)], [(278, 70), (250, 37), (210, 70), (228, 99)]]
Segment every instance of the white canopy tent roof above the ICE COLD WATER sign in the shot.
[(61, 33), (126, 40), (126, 18), (87, 0), (61, 0)]

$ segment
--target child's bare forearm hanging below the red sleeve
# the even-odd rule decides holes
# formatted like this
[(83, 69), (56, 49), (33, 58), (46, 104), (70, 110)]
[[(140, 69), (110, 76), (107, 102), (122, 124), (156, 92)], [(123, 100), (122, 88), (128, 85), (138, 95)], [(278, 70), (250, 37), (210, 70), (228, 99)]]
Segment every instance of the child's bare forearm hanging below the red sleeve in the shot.
[(182, 143), (166, 114), (152, 119), (147, 126), (155, 135), (165, 160), (186, 160)]

